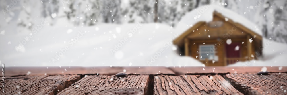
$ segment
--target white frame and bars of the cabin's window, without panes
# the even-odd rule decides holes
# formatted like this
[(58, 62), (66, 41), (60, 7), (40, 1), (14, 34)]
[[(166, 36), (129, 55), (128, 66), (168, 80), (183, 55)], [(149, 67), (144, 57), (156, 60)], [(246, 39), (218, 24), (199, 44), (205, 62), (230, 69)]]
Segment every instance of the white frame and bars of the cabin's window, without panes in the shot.
[[(206, 55), (206, 51), (204, 51), (204, 52), (201, 52), (202, 50), (201, 50), (201, 48), (202, 47), (215, 47), (215, 45), (213, 45), (213, 44), (208, 44), (208, 45), (199, 45), (199, 59), (200, 60), (205, 60), (205, 58), (203, 59), (203, 58), (201, 58), (201, 56), (203, 56), (202, 54), (205, 54), (204, 56), (207, 56)], [(210, 49), (208, 49), (208, 56), (210, 56), (210, 55), (213, 55), (213, 57), (210, 59), (210, 58), (208, 58), (208, 59), (210, 59), (210, 60), (216, 60), (216, 55), (215, 55), (215, 53), (216, 53), (216, 50), (214, 50), (214, 53), (211, 53), (210, 52)]]

